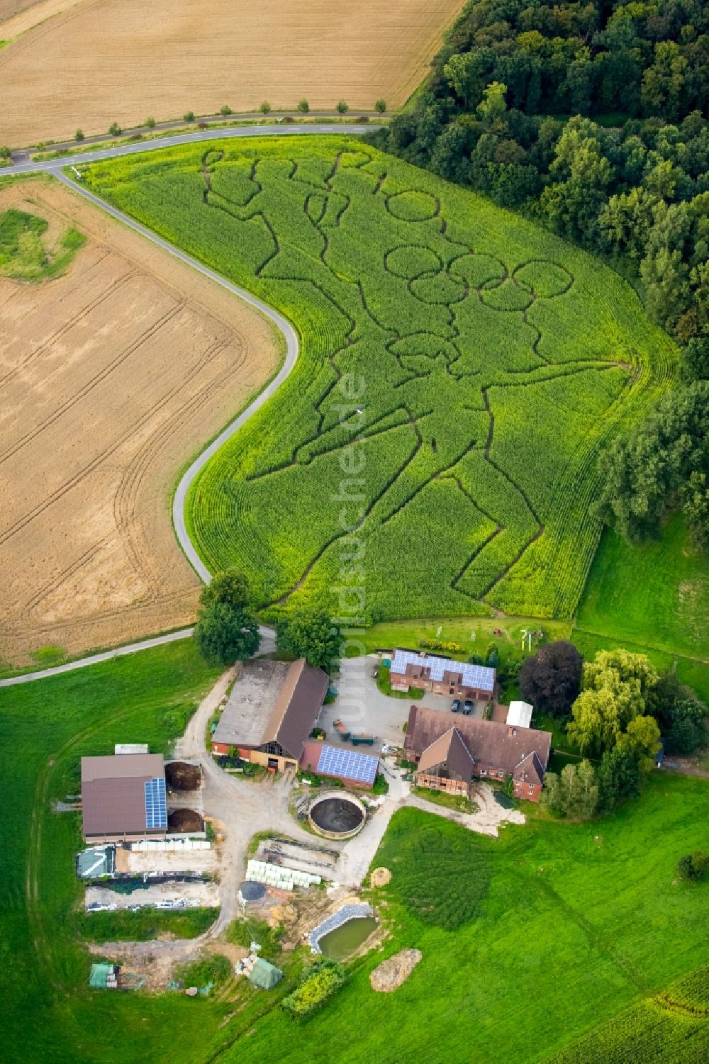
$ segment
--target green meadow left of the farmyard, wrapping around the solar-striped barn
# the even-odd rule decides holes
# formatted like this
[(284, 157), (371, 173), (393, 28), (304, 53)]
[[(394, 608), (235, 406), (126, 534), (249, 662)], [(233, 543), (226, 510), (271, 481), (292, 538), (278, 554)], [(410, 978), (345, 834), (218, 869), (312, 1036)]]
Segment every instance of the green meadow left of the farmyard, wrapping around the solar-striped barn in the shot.
[(89, 993), (90, 961), (75, 940), (79, 817), (50, 805), (76, 793), (82, 754), (121, 741), (167, 752), (214, 678), (187, 641), (0, 692), (0, 1055), (9, 1064), (95, 1064), (106, 1038), (136, 1064), (169, 1038), (170, 1059), (194, 1064), (204, 1023), (221, 1017), (209, 1001), (195, 1010), (183, 997)]

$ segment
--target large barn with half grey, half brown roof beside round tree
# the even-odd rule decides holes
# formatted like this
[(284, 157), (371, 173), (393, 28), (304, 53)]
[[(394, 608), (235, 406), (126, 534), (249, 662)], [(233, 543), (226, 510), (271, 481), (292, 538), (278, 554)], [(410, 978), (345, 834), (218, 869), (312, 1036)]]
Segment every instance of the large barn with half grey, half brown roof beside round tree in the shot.
[(240, 757), (268, 769), (296, 768), (327, 692), (327, 675), (304, 658), (248, 662), (216, 726), (212, 751), (235, 747)]

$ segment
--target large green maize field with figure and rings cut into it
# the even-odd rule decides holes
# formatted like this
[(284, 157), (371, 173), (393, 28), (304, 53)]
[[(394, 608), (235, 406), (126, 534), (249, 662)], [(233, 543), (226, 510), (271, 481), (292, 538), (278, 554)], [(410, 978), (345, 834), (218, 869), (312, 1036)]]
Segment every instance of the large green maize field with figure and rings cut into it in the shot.
[(349, 584), (367, 620), (574, 612), (598, 452), (676, 372), (615, 273), (351, 138), (176, 147), (86, 183), (299, 331), (189, 497), (212, 569), (271, 612)]

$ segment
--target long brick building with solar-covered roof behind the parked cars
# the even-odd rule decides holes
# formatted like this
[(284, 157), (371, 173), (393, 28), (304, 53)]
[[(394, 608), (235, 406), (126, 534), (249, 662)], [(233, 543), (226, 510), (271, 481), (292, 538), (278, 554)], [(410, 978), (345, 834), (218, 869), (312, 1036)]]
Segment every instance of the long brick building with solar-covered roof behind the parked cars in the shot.
[(394, 691), (423, 687), (436, 695), (452, 695), (475, 701), (489, 701), (495, 694), (495, 669), (468, 665), (450, 658), (421, 654), (415, 650), (395, 650), (390, 666)]

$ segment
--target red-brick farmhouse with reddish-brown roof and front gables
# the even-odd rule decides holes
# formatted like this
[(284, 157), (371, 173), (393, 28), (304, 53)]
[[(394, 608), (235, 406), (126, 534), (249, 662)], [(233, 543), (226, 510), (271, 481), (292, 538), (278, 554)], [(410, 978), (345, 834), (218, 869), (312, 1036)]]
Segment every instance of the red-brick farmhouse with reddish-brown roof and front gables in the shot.
[(467, 794), (474, 778), (512, 777), (517, 798), (539, 801), (549, 761), (551, 733), (497, 720), (458, 717), (412, 705), (405, 757), (417, 764), (422, 787)]

